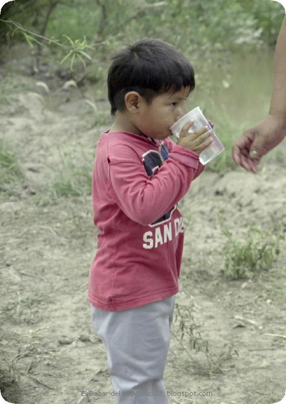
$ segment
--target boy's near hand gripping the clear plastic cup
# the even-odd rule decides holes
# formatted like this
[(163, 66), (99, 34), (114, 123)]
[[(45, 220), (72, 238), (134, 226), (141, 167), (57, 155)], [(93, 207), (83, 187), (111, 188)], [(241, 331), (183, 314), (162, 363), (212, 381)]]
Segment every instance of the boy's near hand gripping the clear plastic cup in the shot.
[[(208, 137), (211, 135), (212, 131), (206, 126), (203, 126), (196, 132), (188, 133), (189, 128), (192, 127), (193, 124), (194, 121), (189, 121), (182, 127), (177, 144), (195, 151), (195, 153), (200, 155), (202, 151), (211, 144), (212, 139), (208, 139)], [(214, 126), (212, 122), (210, 122), (210, 125), (211, 127)]]

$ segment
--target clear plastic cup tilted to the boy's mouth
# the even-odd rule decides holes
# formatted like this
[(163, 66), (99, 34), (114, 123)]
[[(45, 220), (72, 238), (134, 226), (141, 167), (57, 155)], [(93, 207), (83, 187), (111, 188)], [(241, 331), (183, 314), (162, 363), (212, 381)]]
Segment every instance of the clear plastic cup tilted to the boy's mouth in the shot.
[(189, 111), (187, 114), (181, 117), (177, 122), (174, 123), (174, 125), (170, 127), (170, 131), (173, 133), (173, 135), (179, 138), (182, 127), (190, 120), (194, 120), (195, 122), (192, 127), (189, 128), (189, 133), (195, 132), (203, 126), (208, 126), (208, 128), (212, 131), (210, 137), (213, 139), (213, 141), (200, 154), (200, 162), (205, 166), (224, 150), (224, 145), (215, 134), (215, 131), (202, 113), (200, 107), (194, 108), (192, 111)]

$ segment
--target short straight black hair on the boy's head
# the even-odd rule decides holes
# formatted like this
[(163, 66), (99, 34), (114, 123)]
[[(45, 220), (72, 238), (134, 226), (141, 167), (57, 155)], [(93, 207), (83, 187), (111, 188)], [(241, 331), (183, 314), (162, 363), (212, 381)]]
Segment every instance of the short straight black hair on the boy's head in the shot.
[(195, 88), (192, 65), (172, 45), (157, 39), (141, 39), (122, 49), (108, 71), (111, 114), (125, 110), (124, 96), (137, 91), (151, 104), (154, 96)]

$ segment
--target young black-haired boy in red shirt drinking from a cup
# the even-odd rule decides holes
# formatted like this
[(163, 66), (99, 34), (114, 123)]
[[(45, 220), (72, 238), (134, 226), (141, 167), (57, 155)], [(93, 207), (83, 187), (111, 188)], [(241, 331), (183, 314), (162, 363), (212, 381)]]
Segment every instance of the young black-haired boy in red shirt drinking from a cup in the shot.
[(114, 58), (108, 96), (115, 121), (101, 134), (92, 197), (98, 249), (89, 274), (91, 320), (105, 343), (118, 404), (166, 404), (163, 374), (183, 250), (178, 201), (204, 170), (211, 140), (184, 115), (194, 70), (166, 42), (142, 39)]

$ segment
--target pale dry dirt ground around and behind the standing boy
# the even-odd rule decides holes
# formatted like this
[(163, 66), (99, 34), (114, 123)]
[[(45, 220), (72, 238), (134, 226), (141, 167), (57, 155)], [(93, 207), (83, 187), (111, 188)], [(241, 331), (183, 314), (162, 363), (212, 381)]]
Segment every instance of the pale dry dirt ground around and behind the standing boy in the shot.
[[(111, 404), (106, 353), (92, 330), (87, 300), (97, 245), (91, 196), (49, 196), (63, 156), (90, 161), (91, 172), (106, 126), (94, 126), (94, 112), (77, 91), (53, 94), (59, 107), (49, 111), (51, 94), (42, 95), (43, 105), (37, 79), (25, 80), (34, 90), (16, 88), (0, 111), (2, 137), (25, 175), (12, 194), (1, 195), (1, 394), (20, 404)], [(283, 396), (284, 245), (271, 269), (254, 279), (228, 280), (218, 215), (241, 238), (251, 225), (281, 221), (286, 231), (285, 174), (285, 165), (275, 161), (263, 163), (257, 175), (206, 172), (181, 201), (185, 247), (176, 303), (191, 308), (209, 344), (207, 359), (219, 366), (210, 371), (206, 356), (180, 340), (175, 311), (165, 371), (170, 404), (271, 404)]]

